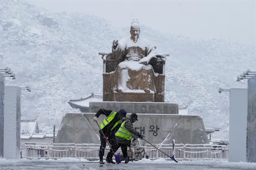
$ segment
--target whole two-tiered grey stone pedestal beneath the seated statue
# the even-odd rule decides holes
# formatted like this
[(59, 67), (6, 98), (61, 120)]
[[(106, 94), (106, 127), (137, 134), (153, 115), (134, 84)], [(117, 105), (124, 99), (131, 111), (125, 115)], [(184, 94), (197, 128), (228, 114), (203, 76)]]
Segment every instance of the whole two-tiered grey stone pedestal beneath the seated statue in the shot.
[[(208, 144), (204, 122), (199, 115), (179, 115), (178, 104), (153, 102), (90, 102), (89, 113), (67, 113), (56, 138), (56, 143), (100, 143), (99, 128), (93, 121), (99, 109), (125, 109), (127, 117), (138, 115), (134, 128), (151, 143)], [(99, 116), (100, 124), (104, 115)]]

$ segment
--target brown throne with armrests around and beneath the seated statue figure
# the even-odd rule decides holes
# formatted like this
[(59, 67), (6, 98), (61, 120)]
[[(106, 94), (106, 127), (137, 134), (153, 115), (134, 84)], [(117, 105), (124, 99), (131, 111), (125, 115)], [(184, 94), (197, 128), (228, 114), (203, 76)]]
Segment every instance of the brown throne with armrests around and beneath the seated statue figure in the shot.
[[(155, 47), (156, 48), (156, 47)], [(110, 72), (116, 70), (119, 63), (124, 60), (117, 60), (112, 53), (99, 52), (103, 59), (103, 101), (131, 101), (131, 102), (164, 102), (165, 101), (165, 56), (168, 54), (159, 54), (157, 58), (150, 59), (155, 73), (155, 89), (156, 93), (123, 93), (113, 91), (111, 88)]]

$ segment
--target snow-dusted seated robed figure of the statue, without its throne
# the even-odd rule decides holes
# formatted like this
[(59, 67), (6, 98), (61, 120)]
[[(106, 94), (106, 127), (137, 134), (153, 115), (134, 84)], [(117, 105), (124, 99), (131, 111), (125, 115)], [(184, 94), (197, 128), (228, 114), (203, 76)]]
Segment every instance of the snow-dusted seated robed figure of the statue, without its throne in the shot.
[[(164, 74), (165, 57), (169, 54), (157, 53), (155, 46), (140, 37), (140, 24), (137, 19), (133, 19), (131, 23), (130, 35), (114, 40), (112, 53), (99, 53), (103, 59), (114, 59), (118, 64), (114, 71), (109, 72), (109, 86), (113, 92), (155, 94), (156, 84), (159, 84), (155, 81), (159, 80), (159, 74)], [(107, 56), (104, 58), (104, 55)], [(164, 89), (161, 93), (164, 93)]]

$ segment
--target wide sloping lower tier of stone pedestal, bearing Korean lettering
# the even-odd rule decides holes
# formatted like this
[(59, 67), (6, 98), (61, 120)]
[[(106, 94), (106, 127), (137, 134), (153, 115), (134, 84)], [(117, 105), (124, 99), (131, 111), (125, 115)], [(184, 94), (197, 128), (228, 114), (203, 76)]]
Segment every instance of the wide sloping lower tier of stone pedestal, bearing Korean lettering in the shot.
[[(204, 122), (199, 115), (137, 114), (133, 127), (150, 143), (208, 144)], [(130, 114), (127, 114), (129, 117)], [(95, 113), (67, 113), (56, 138), (56, 143), (100, 143), (99, 127), (93, 121)], [(99, 116), (99, 124), (105, 118)]]

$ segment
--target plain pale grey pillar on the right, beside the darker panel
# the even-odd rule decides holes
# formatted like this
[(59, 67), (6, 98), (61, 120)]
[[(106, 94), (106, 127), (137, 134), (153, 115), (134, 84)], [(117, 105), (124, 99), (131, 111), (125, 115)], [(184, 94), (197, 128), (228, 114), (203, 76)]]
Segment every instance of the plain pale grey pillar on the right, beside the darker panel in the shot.
[(247, 88), (230, 88), (229, 162), (246, 162)]

